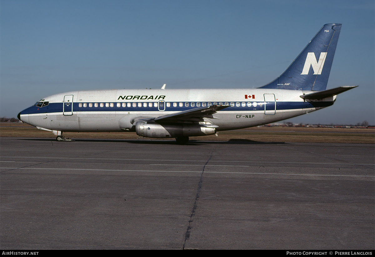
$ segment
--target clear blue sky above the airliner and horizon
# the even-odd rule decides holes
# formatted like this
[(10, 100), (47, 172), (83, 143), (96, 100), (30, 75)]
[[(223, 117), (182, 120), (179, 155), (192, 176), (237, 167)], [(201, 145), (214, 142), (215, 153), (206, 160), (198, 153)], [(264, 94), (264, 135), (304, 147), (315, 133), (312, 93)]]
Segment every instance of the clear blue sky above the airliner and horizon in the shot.
[(360, 87), (288, 121), (375, 124), (374, 0), (1, 0), (0, 117), (114, 88), (257, 88), (342, 23), (327, 88)]

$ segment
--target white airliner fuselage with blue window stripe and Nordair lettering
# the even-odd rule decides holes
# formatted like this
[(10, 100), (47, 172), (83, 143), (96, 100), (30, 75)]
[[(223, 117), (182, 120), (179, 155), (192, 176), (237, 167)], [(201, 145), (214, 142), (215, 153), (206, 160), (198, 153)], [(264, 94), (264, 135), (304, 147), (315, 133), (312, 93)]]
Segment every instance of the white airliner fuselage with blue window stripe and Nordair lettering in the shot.
[[(136, 117), (156, 118), (210, 105), (230, 105), (200, 121), (216, 131), (273, 123), (332, 105), (335, 97), (306, 101), (312, 91), (236, 90), (97, 90), (72, 91), (41, 100), (20, 113), (22, 121), (57, 131), (124, 131)], [(194, 123), (194, 121), (188, 121)]]

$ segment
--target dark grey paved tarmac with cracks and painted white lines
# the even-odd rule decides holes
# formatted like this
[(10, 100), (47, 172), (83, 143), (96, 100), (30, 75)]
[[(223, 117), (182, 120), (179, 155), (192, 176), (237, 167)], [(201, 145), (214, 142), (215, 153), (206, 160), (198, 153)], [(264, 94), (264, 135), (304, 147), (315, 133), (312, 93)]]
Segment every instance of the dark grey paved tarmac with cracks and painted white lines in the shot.
[(2, 250), (374, 249), (374, 144), (0, 145)]

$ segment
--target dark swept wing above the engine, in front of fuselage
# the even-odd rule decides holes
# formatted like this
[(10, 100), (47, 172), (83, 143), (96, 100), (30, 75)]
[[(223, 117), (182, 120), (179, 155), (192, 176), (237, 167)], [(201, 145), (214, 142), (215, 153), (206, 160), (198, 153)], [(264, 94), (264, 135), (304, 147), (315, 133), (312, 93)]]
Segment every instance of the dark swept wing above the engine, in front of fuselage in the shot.
[(176, 112), (174, 114), (167, 114), (156, 117), (154, 121), (157, 123), (164, 122), (183, 122), (183, 121), (201, 121), (202, 118), (217, 119), (213, 116), (217, 111), (229, 107), (230, 105), (210, 105), (205, 107), (198, 107), (187, 111)]

